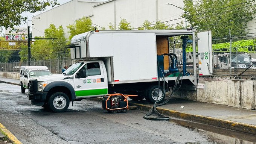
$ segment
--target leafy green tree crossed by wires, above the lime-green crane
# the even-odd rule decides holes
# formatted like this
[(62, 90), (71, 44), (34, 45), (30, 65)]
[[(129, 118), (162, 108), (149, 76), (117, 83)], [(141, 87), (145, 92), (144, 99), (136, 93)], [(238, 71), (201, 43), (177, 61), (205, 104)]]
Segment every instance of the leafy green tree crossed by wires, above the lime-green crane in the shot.
[(212, 30), (212, 38), (245, 35), (247, 22), (256, 14), (256, 6), (247, 0), (183, 0), (184, 17), (198, 31)]

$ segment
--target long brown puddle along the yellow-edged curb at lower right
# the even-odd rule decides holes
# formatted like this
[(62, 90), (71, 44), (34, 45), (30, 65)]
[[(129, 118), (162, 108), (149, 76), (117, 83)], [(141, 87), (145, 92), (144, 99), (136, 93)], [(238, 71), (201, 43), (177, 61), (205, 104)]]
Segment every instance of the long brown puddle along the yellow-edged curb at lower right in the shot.
[(221, 127), (210, 126), (207, 124), (194, 123), (191, 121), (178, 119), (171, 119), (170, 121), (210, 136), (210, 139), (221, 144), (256, 144), (256, 135), (222, 129)]

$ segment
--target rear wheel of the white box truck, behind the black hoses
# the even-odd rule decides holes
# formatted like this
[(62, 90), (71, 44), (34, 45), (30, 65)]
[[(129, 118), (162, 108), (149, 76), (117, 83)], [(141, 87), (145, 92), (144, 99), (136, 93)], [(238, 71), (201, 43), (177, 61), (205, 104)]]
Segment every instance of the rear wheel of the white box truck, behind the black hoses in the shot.
[[(155, 103), (157, 100), (158, 102), (163, 102), (165, 100), (165, 94), (163, 94), (163, 87), (159, 87), (159, 92), (158, 92), (158, 85), (153, 85), (149, 88), (148, 90), (148, 100), (151, 103)], [(157, 99), (157, 93), (158, 93), (158, 99)]]

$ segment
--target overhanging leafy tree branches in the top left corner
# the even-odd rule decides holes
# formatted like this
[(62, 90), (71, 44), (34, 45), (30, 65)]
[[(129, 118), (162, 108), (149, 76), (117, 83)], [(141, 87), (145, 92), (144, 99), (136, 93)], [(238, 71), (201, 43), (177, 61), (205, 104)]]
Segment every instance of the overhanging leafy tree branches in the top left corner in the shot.
[(0, 1), (0, 32), (3, 28), (13, 28), (26, 21), (22, 12), (38, 12), (46, 10), (47, 6), (59, 5), (57, 0), (1, 0)]

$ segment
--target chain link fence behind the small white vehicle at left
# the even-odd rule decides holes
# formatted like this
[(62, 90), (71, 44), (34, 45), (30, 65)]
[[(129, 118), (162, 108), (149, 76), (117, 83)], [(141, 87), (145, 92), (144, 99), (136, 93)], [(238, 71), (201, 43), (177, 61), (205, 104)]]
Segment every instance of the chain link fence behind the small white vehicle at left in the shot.
[[(61, 73), (61, 70), (65, 65), (69, 67), (72, 64), (73, 60), (71, 58), (47, 59), (30, 62), (30, 65), (47, 66), (53, 74)], [(23, 65), (28, 65), (28, 62), (0, 63), (0, 71), (19, 72), (20, 67)]]

